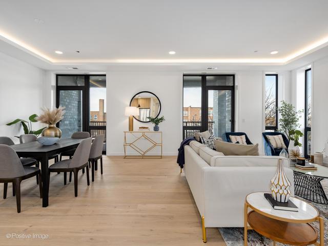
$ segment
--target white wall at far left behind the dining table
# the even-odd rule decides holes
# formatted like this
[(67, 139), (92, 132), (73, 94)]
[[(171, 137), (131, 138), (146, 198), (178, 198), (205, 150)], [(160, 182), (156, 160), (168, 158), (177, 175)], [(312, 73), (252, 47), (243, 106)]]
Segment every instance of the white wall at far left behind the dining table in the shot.
[[(43, 106), (44, 70), (0, 53), (0, 136), (23, 133), (20, 125), (6, 126), (16, 118), (28, 119)], [(33, 130), (40, 127), (33, 124)]]

